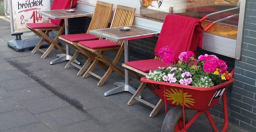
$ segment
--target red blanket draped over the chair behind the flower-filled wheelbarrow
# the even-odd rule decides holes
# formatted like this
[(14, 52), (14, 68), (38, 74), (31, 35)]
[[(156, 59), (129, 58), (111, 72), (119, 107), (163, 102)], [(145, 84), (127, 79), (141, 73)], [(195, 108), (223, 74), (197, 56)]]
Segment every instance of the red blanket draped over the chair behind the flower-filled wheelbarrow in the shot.
[(177, 60), (181, 52), (196, 53), (197, 47), (202, 48), (203, 28), (198, 19), (186, 16), (169, 14), (165, 17), (156, 47), (155, 55), (164, 46), (170, 47)]

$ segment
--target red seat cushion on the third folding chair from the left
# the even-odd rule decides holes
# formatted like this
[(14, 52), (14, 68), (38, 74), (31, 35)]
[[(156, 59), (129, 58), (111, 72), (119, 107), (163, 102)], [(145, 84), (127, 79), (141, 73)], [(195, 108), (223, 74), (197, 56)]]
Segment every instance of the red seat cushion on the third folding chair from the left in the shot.
[(111, 41), (102, 39), (102, 40), (91, 40), (91, 41), (79, 41), (79, 43), (90, 49), (102, 49), (102, 48), (112, 48), (119, 47), (120, 45), (113, 43)]

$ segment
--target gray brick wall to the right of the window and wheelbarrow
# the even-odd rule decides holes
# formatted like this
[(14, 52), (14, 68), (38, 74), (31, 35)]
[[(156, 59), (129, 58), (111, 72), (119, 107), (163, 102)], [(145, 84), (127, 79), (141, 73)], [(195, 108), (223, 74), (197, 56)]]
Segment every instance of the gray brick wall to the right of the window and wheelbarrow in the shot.
[(231, 93), (230, 117), (239, 127), (256, 131), (256, 1), (247, 0), (241, 60), (235, 60), (236, 82)]

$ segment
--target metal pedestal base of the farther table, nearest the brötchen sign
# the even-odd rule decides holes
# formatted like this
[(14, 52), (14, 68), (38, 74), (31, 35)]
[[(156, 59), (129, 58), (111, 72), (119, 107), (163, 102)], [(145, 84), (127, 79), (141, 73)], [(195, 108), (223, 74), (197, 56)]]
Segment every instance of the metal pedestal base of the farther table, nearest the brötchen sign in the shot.
[[(65, 22), (65, 35), (69, 34), (69, 29), (68, 29), (68, 20), (67, 18), (64, 19), (64, 22)], [(52, 60), (50, 62), (51, 65), (53, 64), (56, 64), (56, 63), (60, 63), (64, 60), (70, 60), (72, 58), (71, 55), (69, 55), (69, 52), (70, 52), (70, 49), (69, 47), (66, 45), (66, 53), (62, 53), (62, 54), (57, 54), (57, 57), (59, 58), (56, 58), (54, 60)], [(77, 63), (78, 65), (80, 65), (80, 62), (78, 62), (77, 60), (74, 61), (74, 63)]]

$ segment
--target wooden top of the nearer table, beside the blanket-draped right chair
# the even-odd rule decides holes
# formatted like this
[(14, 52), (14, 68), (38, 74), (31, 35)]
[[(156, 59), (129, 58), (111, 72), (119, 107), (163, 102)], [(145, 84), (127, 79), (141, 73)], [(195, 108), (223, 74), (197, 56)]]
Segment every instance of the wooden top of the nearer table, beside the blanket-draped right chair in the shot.
[(157, 36), (160, 31), (146, 29), (139, 26), (128, 26), (129, 31), (121, 31), (120, 27), (90, 30), (89, 33), (114, 41), (124, 41)]

